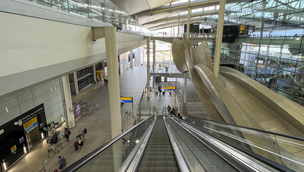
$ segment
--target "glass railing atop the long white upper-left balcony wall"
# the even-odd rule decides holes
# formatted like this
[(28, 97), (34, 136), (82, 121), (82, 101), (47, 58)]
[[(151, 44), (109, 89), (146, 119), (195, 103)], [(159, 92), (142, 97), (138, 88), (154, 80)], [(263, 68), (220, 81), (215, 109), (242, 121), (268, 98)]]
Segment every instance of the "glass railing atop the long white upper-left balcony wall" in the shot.
[(119, 26), (138, 33), (150, 33), (126, 12), (109, 0), (28, 0), (50, 8), (59, 9), (71, 14), (89, 18), (112, 26)]

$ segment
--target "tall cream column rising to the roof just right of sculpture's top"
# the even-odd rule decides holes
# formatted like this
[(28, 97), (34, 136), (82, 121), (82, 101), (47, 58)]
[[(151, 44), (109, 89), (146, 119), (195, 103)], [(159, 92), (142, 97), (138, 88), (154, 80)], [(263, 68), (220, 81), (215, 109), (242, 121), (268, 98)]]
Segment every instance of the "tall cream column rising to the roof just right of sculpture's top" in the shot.
[(214, 58), (214, 66), (213, 66), (213, 74), (216, 76), (216, 78), (219, 78), (219, 61), (221, 58), (225, 5), (226, 5), (226, 0), (219, 0), (219, 19), (217, 22), (215, 58)]

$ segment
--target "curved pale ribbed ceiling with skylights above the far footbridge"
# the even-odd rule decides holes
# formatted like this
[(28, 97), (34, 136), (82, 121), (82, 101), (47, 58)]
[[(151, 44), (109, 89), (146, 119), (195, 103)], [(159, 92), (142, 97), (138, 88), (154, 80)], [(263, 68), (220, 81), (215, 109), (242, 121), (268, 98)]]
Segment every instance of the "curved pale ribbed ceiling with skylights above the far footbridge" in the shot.
[[(111, 0), (130, 16), (138, 17), (138, 22), (149, 30), (157, 30), (176, 26), (178, 18), (180, 25), (187, 23), (188, 7), (191, 10), (203, 9), (219, 5), (219, 0)], [(249, 2), (250, 0), (227, 0), (226, 4)], [(185, 13), (184, 13), (185, 12)], [(178, 14), (181, 14), (178, 17)], [(190, 23), (205, 21), (205, 16), (218, 14), (216, 7), (207, 11), (192, 12)], [(174, 16), (173, 16), (174, 15)]]

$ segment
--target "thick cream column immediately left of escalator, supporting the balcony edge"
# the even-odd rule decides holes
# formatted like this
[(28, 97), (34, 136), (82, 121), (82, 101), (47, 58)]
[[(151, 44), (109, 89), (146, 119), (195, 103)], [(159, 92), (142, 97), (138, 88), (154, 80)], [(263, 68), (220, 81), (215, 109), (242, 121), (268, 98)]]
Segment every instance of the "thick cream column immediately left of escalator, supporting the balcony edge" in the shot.
[(107, 70), (109, 82), (109, 101), (112, 139), (121, 134), (119, 76), (117, 60), (116, 27), (105, 27), (105, 54), (107, 57)]

